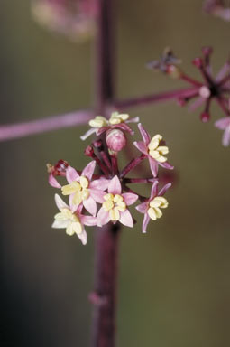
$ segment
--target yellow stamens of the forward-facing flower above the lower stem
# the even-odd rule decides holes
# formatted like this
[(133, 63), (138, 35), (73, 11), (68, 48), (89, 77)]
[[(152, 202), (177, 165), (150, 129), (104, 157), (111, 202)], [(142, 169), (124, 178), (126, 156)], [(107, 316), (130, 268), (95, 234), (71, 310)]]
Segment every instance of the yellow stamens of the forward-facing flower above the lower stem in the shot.
[(110, 220), (120, 220), (120, 211), (126, 210), (126, 203), (122, 195), (108, 193), (104, 196), (106, 202), (102, 206), (105, 211), (109, 212)]

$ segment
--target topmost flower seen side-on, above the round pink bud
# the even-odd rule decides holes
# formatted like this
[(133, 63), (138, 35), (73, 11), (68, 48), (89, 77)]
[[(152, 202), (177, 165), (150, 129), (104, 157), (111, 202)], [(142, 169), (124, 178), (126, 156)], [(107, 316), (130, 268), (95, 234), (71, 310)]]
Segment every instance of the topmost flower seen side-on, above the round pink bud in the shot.
[(127, 126), (127, 123), (137, 122), (139, 122), (139, 117), (129, 118), (129, 115), (123, 113), (119, 114), (118, 112), (113, 112), (109, 119), (106, 119), (106, 117), (97, 116), (89, 121), (88, 124), (91, 129), (89, 129), (85, 135), (80, 136), (80, 138), (82, 140), (86, 140), (87, 137), (92, 134), (100, 136), (110, 129), (120, 129), (133, 135), (133, 130), (131, 127)]

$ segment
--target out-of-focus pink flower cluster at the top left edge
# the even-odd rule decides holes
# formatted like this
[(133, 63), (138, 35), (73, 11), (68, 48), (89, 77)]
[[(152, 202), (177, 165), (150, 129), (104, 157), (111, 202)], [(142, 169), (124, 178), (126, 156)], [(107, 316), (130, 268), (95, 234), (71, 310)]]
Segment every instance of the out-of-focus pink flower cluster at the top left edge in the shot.
[(82, 41), (95, 32), (95, 0), (32, 0), (33, 18), (52, 32)]

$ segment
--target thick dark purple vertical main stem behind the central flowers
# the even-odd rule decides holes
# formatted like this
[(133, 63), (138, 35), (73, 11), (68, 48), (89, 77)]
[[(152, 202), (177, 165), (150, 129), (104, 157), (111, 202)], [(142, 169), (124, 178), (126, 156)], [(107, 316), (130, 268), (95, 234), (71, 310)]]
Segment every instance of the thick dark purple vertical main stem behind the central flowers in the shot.
[[(114, 0), (97, 0), (96, 111), (106, 115), (114, 100)], [(112, 223), (96, 234), (92, 347), (115, 347), (116, 263), (119, 226)]]

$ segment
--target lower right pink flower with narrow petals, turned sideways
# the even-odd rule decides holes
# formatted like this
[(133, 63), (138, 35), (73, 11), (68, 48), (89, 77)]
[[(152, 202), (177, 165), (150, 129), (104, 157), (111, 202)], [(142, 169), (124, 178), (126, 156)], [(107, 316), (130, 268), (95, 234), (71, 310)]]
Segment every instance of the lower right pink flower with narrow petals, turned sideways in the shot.
[(146, 232), (149, 221), (157, 220), (161, 218), (162, 212), (161, 209), (166, 209), (168, 207), (168, 202), (165, 198), (162, 197), (164, 193), (170, 188), (171, 183), (166, 184), (160, 192), (158, 192), (158, 182), (155, 181), (152, 184), (152, 191), (150, 199), (146, 202), (141, 203), (136, 206), (136, 210), (143, 213), (143, 232)]

